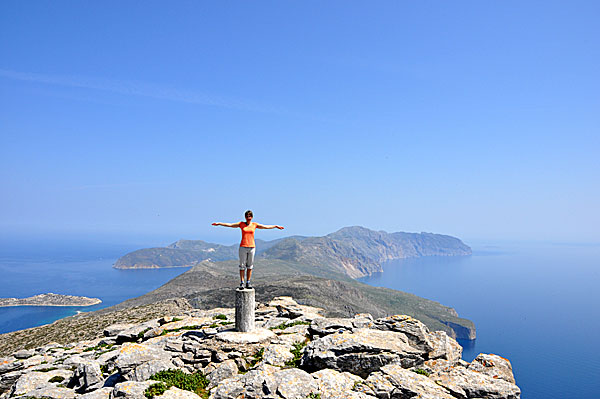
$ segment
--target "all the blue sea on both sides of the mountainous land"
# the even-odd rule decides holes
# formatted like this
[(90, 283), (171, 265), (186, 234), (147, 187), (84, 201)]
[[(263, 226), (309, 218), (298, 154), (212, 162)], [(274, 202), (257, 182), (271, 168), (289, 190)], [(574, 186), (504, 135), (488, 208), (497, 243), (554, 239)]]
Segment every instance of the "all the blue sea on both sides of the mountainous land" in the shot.
[[(600, 397), (600, 245), (467, 244), (473, 255), (390, 261), (382, 273), (361, 281), (440, 302), (472, 320), (477, 339), (459, 341), (463, 359), (472, 361), (479, 353), (508, 358), (522, 398)], [(53, 292), (103, 302), (90, 307), (0, 308), (0, 333), (120, 303), (189, 269), (112, 267), (119, 256), (142, 247), (91, 241), (3, 242), (0, 297)]]

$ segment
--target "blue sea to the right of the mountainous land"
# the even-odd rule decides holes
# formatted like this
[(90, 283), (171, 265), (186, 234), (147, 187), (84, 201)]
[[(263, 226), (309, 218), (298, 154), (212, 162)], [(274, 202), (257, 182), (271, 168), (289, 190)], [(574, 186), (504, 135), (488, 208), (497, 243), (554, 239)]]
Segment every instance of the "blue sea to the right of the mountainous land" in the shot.
[(463, 359), (495, 353), (522, 398), (597, 398), (600, 246), (480, 245), (472, 256), (391, 261), (361, 281), (438, 301), (475, 323)]

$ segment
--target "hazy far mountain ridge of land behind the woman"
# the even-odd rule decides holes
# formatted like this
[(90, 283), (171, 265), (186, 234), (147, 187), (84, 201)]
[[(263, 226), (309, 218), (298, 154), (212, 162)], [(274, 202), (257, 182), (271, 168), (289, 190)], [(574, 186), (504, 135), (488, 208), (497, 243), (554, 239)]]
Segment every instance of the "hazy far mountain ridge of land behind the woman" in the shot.
[[(460, 239), (433, 233), (387, 233), (361, 226), (344, 227), (322, 237), (293, 236), (273, 241), (256, 240), (257, 257), (280, 259), (327, 268), (351, 278), (383, 271), (388, 260), (421, 256), (461, 256), (472, 251)], [(114, 264), (118, 269), (190, 267), (203, 260), (237, 259), (238, 244), (211, 244), (179, 240), (167, 247), (130, 252)]]

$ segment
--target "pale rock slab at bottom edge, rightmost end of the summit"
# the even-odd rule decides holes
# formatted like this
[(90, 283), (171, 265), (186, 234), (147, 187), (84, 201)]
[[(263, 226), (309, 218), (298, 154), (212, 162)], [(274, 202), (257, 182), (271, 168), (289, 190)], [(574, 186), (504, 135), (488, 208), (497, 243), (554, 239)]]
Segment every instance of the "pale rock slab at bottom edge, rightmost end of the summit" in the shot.
[(521, 397), (521, 390), (516, 385), (463, 367), (455, 367), (449, 373), (435, 373), (430, 378), (456, 397), (489, 399)]

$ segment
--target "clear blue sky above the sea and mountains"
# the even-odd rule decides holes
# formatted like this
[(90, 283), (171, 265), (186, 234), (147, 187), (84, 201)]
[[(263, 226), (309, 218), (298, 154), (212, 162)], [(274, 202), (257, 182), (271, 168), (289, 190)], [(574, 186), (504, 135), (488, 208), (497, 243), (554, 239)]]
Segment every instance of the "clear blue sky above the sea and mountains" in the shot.
[[(600, 242), (600, 2), (0, 2), (0, 229)], [(228, 231), (226, 231), (228, 230)]]

